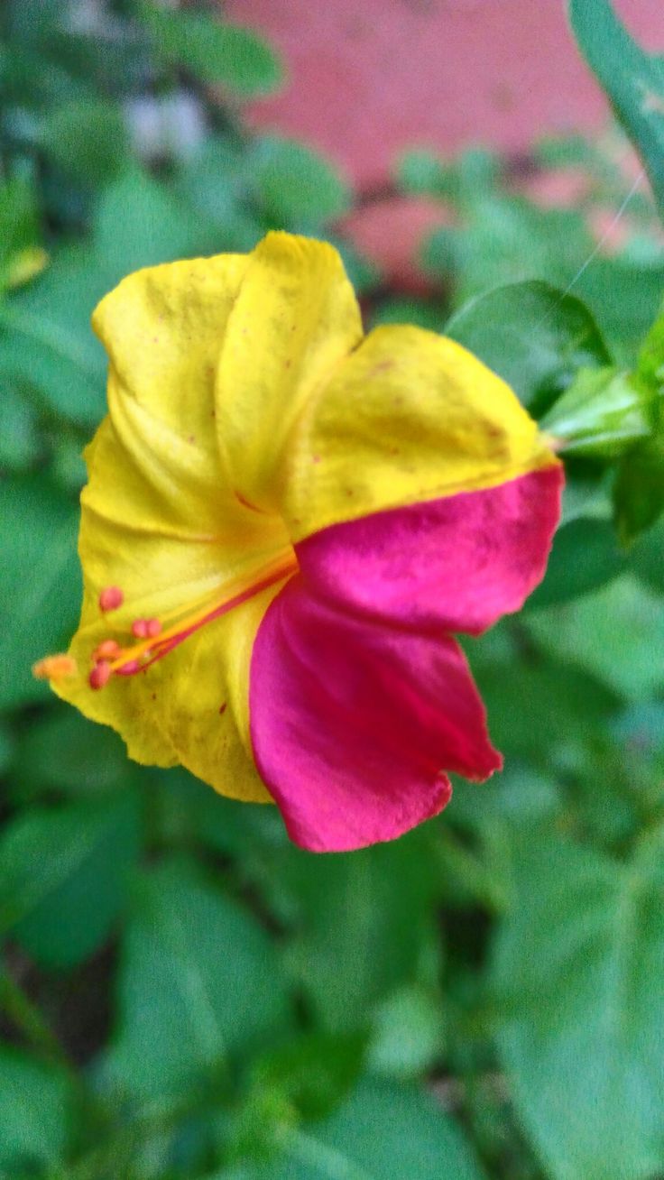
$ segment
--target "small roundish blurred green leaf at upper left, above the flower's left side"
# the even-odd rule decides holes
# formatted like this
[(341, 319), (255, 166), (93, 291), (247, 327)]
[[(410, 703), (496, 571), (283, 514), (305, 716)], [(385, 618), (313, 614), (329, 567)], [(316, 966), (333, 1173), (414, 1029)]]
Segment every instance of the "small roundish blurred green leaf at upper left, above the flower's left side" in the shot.
[(72, 99), (47, 114), (39, 143), (58, 169), (87, 188), (117, 176), (130, 158), (119, 106), (99, 99)]

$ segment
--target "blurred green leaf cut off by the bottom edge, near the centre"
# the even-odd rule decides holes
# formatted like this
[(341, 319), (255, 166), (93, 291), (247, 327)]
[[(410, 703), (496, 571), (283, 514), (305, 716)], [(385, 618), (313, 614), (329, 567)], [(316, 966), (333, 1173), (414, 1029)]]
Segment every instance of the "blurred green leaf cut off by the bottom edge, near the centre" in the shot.
[[(284, 1128), (282, 1158), (246, 1180), (484, 1180), (454, 1120), (410, 1086), (363, 1082), (326, 1122)], [(219, 1178), (221, 1180), (221, 1178)]]

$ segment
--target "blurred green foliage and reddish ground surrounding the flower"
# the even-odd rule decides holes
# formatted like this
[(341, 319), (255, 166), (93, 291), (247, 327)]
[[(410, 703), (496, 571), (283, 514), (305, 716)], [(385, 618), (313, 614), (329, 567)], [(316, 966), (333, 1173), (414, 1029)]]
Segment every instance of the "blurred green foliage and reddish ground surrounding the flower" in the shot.
[[(660, 0), (616, 8), (662, 53)], [(31, 677), (126, 273), (281, 228), (368, 326), (571, 289), (598, 327), (533, 341), (543, 411), (633, 365), (664, 237), (563, 0), (4, 0), (0, 35), (0, 1178), (664, 1176), (663, 531), (618, 545), (603, 467), (466, 644), (505, 772), (394, 844), (303, 853)]]

